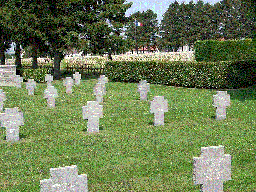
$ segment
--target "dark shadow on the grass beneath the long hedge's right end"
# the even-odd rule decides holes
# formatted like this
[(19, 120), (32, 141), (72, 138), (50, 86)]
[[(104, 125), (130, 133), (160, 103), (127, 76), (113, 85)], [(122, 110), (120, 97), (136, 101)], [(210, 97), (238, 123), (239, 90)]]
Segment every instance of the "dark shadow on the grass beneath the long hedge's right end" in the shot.
[(227, 94), (230, 95), (230, 100), (256, 100), (256, 87), (228, 90)]

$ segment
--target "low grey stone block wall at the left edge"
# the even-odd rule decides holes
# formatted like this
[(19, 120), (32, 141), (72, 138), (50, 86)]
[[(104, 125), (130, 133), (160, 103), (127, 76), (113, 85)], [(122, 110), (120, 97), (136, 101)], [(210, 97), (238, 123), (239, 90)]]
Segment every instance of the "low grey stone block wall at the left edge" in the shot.
[(0, 82), (14, 82), (16, 65), (0, 65)]

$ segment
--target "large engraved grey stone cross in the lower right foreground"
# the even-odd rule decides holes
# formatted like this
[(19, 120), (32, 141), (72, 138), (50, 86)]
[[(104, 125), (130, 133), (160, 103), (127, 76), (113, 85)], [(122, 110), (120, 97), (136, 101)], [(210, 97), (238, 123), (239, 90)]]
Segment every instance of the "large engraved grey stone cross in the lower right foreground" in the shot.
[(193, 183), (201, 192), (222, 192), (223, 182), (231, 179), (231, 155), (224, 154), (224, 146), (201, 148), (201, 157), (193, 158)]

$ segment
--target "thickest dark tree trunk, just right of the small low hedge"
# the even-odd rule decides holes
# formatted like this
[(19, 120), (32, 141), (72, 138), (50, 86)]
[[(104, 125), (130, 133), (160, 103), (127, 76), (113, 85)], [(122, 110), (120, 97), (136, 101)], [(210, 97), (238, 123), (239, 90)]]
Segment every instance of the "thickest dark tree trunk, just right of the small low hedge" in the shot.
[(59, 39), (54, 38), (52, 42), (53, 49), (53, 78), (61, 79), (60, 74), (60, 52), (57, 50), (60, 47)]

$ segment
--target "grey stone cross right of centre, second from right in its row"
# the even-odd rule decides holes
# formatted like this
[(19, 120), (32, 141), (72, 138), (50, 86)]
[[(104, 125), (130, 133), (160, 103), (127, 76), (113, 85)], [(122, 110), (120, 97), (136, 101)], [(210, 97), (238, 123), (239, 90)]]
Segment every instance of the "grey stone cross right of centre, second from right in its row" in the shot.
[(164, 125), (164, 113), (168, 112), (168, 100), (157, 96), (150, 101), (150, 113), (154, 113), (154, 126)]

